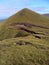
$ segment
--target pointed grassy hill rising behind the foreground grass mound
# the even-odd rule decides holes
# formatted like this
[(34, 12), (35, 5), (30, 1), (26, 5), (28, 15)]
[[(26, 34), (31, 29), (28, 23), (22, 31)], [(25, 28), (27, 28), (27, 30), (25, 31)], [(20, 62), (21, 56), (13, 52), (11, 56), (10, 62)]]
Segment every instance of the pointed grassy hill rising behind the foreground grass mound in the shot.
[(49, 19), (25, 8), (9, 17), (2, 24), (0, 28), (0, 39), (14, 38), (17, 37), (19, 33), (20, 36), (30, 34), (30, 32), (28, 33), (27, 31), (22, 30), (22, 28), (36, 33), (41, 31), (42, 33), (43, 30), (49, 30)]

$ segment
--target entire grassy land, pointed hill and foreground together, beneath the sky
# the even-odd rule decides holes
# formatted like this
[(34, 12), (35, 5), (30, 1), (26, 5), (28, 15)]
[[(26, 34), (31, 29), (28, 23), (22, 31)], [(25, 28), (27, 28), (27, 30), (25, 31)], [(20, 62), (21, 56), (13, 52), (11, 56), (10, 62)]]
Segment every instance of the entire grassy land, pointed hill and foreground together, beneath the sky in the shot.
[(49, 65), (49, 18), (25, 8), (1, 23), (0, 65)]

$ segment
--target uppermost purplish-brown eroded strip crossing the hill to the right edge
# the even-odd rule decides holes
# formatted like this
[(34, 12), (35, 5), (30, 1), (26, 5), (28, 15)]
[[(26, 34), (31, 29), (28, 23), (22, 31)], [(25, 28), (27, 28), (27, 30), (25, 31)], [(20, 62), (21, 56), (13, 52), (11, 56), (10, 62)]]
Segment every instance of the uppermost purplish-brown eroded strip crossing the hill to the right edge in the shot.
[(37, 24), (30, 24), (30, 23), (14, 23), (14, 24), (11, 24), (11, 26), (17, 26), (17, 25), (24, 25), (26, 27), (39, 27), (39, 28), (43, 28), (43, 29), (49, 29), (49, 27), (45, 27), (45, 26), (41, 26), (41, 25), (37, 25)]

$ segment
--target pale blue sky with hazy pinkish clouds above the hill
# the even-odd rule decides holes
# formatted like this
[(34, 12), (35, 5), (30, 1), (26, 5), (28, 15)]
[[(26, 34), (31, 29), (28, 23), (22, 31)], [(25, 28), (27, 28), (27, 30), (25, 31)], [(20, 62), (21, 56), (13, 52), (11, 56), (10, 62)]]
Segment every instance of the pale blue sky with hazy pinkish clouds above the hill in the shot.
[(0, 0), (0, 18), (9, 17), (23, 8), (40, 14), (49, 13), (49, 0)]

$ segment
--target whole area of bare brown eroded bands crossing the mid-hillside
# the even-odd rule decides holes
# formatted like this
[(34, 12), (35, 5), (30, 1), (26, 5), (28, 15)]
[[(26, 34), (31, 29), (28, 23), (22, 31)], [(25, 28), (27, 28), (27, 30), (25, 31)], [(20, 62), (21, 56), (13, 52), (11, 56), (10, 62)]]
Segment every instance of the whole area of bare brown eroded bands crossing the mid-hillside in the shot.
[[(40, 35), (43, 35), (45, 36), (45, 33), (39, 33), (39, 32), (35, 32), (34, 30), (30, 30), (30, 28), (33, 28), (33, 27), (38, 27), (38, 28), (43, 28), (43, 29), (48, 29), (48, 27), (44, 27), (44, 26), (39, 26), (39, 25), (36, 25), (36, 24), (30, 24), (30, 23), (25, 23), (25, 22), (22, 22), (22, 23), (13, 23), (13, 24), (10, 24), (9, 28), (16, 28), (18, 30), (22, 30), (22, 31), (25, 31), (29, 34), (32, 34), (34, 37), (36, 38), (39, 38), (41, 39), (41, 36)], [(17, 37), (17, 35), (15, 36)]]

